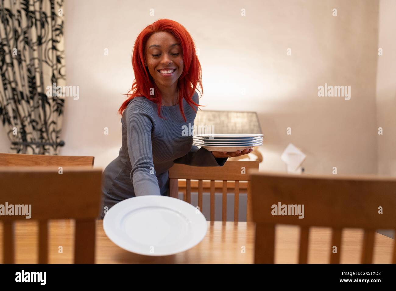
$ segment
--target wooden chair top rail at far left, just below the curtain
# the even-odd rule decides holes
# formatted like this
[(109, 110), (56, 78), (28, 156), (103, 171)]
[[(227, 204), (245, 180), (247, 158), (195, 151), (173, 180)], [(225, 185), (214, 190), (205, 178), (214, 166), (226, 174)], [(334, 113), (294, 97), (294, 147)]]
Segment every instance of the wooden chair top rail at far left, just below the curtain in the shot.
[(0, 153), (0, 167), (6, 166), (93, 166), (92, 156), (49, 156)]

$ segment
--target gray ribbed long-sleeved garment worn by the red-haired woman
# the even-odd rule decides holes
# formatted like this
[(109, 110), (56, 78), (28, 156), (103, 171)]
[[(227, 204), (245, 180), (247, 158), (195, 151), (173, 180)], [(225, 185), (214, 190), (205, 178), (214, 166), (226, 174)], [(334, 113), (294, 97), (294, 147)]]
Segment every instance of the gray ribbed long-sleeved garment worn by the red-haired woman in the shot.
[[(192, 97), (198, 104), (198, 93)], [(196, 106), (192, 105), (194, 108)], [(192, 145), (192, 136), (183, 136), (182, 126), (194, 125), (196, 113), (183, 99), (187, 122), (179, 104), (161, 106), (145, 97), (133, 98), (121, 118), (122, 147), (117, 158), (105, 168), (102, 179), (102, 207), (99, 219), (118, 202), (142, 195), (169, 196), (168, 169), (176, 164), (222, 166), (227, 158), (215, 158), (205, 148)]]

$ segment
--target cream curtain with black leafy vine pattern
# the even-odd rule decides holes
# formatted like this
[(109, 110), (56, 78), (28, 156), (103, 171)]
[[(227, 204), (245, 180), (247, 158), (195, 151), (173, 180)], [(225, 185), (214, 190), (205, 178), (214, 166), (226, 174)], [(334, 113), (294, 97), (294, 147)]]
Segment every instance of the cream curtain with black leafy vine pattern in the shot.
[(0, 17), (0, 120), (10, 152), (57, 155), (64, 144), (65, 99), (54, 92), (66, 81), (63, 0), (0, 0)]

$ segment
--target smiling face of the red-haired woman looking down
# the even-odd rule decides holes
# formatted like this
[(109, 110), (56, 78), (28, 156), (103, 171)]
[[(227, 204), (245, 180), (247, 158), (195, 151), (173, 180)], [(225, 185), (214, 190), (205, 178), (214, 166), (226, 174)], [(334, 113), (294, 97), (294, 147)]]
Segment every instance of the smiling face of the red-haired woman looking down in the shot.
[(169, 32), (156, 32), (147, 40), (145, 66), (157, 86), (177, 85), (183, 72), (181, 46)]

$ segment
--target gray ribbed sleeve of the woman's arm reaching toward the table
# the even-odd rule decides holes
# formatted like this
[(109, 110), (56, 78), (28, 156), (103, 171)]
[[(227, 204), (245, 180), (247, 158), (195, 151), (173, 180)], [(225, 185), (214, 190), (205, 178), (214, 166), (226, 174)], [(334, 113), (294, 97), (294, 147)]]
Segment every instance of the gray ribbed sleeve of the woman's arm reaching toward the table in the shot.
[(160, 195), (160, 187), (152, 160), (152, 108), (136, 100), (126, 112), (128, 154), (132, 165), (130, 179), (136, 196)]

